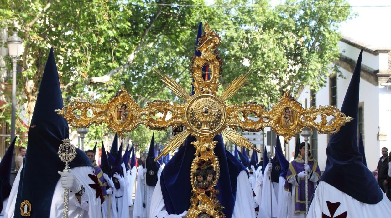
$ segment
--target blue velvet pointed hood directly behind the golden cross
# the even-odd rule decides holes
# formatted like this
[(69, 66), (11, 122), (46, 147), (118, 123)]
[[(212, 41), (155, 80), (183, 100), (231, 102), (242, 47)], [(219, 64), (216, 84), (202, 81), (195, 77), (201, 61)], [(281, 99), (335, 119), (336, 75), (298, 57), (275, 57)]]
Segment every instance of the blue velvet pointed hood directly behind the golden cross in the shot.
[[(198, 39), (202, 35), (202, 23), (200, 22), (197, 34)], [(197, 55), (197, 53), (195, 53)], [(197, 56), (201, 55), (199, 53)], [(194, 80), (193, 80), (194, 82)], [(192, 95), (194, 94), (192, 88)], [(217, 141), (215, 145), (215, 155), (220, 162), (220, 176), (217, 181), (217, 198), (222, 206), (222, 212), (226, 217), (231, 217), (236, 199), (237, 177), (244, 166), (230, 152), (224, 148), (221, 135), (213, 138)], [(192, 197), (192, 186), (190, 182), (190, 167), (194, 159), (196, 149), (191, 143), (195, 142), (193, 136), (188, 136), (185, 146), (181, 147), (178, 152), (164, 167), (160, 176), (161, 193), (164, 204), (169, 214), (180, 214), (190, 207), (190, 198)], [(246, 170), (245, 170), (246, 171)], [(246, 171), (247, 172), (247, 171)]]

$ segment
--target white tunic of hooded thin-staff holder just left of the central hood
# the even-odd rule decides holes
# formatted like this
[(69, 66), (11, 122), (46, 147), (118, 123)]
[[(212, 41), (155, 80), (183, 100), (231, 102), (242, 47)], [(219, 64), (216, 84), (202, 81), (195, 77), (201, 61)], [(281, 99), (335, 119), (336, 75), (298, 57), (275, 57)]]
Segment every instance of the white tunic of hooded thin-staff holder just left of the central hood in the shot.
[[(138, 168), (138, 175), (137, 175), (137, 189), (136, 189), (136, 198), (135, 198), (135, 206), (133, 208), (133, 218), (146, 218), (149, 216), (149, 213), (146, 214), (146, 212), (149, 212), (149, 209), (151, 208), (151, 200), (152, 200), (152, 193), (155, 190), (156, 186), (160, 186), (160, 182), (158, 181), (156, 183), (156, 186), (149, 186), (145, 188), (145, 174), (143, 174), (143, 167), (140, 166)], [(158, 170), (158, 178), (160, 178), (161, 175), (161, 167)], [(146, 194), (145, 194), (145, 191)], [(145, 201), (146, 197), (146, 201)], [(145, 204), (145, 207), (144, 207)], [(149, 216), (150, 217), (150, 216)]]

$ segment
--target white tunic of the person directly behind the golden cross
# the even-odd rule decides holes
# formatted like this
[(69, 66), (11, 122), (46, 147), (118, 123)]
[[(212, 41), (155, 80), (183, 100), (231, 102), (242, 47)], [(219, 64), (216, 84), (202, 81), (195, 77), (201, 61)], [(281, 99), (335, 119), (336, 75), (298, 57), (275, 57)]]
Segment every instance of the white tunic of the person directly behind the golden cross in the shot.
[[(236, 188), (236, 200), (232, 218), (255, 218), (256, 214), (254, 210), (255, 201), (253, 198), (253, 191), (251, 190), (251, 184), (249, 183), (247, 173), (244, 170), (242, 170), (242, 172), (238, 175)], [(164, 218), (169, 215), (165, 210), (160, 180), (156, 184), (155, 191), (152, 195), (149, 214), (149, 218)]]

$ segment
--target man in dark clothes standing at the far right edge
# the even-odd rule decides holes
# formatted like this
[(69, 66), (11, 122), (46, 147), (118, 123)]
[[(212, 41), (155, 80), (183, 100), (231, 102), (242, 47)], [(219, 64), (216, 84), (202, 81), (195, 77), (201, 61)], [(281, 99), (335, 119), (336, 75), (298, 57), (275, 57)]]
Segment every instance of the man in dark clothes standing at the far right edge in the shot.
[(391, 178), (388, 175), (388, 149), (386, 147), (382, 148), (382, 156), (380, 157), (379, 163), (377, 165), (378, 168), (378, 177), (377, 181), (379, 183), (380, 188), (384, 193), (386, 193), (387, 198), (391, 199), (391, 193), (390, 193), (390, 185), (391, 185)]

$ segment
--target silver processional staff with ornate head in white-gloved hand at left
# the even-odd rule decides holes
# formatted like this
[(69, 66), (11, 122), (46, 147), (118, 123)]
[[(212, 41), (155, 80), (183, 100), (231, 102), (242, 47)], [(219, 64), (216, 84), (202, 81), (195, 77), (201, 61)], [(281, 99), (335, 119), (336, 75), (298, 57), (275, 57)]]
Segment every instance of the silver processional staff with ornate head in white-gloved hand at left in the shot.
[[(62, 140), (63, 144), (58, 148), (58, 157), (61, 161), (65, 162), (65, 168), (63, 172), (71, 172), (68, 163), (74, 160), (76, 156), (76, 149), (73, 144), (71, 144), (71, 140), (69, 138), (65, 138)], [(69, 205), (69, 189), (64, 188), (64, 218), (68, 218), (68, 205)]]

